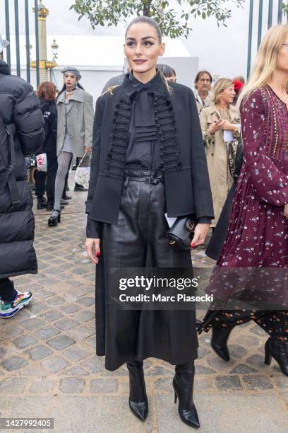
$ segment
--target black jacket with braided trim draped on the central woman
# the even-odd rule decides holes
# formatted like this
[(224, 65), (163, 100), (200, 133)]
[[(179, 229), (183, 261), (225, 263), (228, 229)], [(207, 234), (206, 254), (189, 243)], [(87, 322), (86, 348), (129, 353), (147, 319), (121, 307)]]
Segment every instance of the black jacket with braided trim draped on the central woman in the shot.
[[(214, 218), (208, 168), (193, 92), (179, 83), (167, 90), (160, 75), (148, 88), (154, 98), (155, 120), (161, 148), (161, 165), (167, 214), (193, 214)], [(124, 180), (125, 153), (133, 92), (124, 82), (97, 99), (93, 127), (90, 187), (86, 212), (87, 236), (100, 237), (100, 222), (116, 224)], [(202, 222), (202, 221), (201, 221)]]

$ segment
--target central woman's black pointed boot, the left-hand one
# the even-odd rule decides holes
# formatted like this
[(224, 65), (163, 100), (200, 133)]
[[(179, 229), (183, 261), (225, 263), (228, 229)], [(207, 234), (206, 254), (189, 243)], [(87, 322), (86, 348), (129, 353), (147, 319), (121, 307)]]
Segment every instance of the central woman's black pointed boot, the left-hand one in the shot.
[(129, 371), (129, 408), (139, 420), (148, 417), (148, 398), (146, 394), (143, 361), (127, 362)]

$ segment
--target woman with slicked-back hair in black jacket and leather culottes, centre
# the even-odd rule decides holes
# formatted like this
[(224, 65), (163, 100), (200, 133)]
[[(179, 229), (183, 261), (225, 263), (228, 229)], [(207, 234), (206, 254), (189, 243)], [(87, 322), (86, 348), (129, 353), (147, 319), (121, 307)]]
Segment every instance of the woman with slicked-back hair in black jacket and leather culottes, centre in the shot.
[(155, 21), (133, 20), (124, 52), (131, 73), (97, 100), (86, 209), (86, 248), (97, 264), (97, 354), (105, 355), (108, 370), (127, 363), (129, 406), (140, 420), (148, 415), (143, 359), (176, 365), (179, 415), (199, 427), (193, 404), (195, 311), (123, 309), (113, 301), (119, 291), (111, 272), (191, 268), (190, 250), (169, 246), (165, 212), (193, 214), (199, 224), (191, 246), (203, 243), (213, 210), (198, 111), (191, 89), (168, 84), (157, 72), (164, 43)]

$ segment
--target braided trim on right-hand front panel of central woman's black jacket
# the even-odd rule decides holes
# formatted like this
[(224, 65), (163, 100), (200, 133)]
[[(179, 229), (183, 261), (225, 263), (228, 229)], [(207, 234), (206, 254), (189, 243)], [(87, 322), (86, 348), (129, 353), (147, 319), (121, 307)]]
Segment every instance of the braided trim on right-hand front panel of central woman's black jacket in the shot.
[(180, 150), (176, 141), (175, 115), (171, 100), (166, 95), (155, 95), (155, 121), (160, 139), (161, 168), (163, 171), (180, 170)]

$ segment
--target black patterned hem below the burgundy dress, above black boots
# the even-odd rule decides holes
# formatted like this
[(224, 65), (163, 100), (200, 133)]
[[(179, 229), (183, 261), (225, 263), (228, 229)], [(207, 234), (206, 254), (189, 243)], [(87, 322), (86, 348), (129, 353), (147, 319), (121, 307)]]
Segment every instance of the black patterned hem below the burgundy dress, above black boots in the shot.
[(211, 325), (230, 328), (251, 320), (270, 337), (278, 338), (288, 344), (288, 311), (221, 310)]

